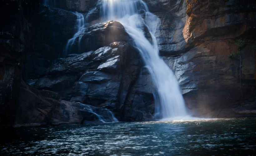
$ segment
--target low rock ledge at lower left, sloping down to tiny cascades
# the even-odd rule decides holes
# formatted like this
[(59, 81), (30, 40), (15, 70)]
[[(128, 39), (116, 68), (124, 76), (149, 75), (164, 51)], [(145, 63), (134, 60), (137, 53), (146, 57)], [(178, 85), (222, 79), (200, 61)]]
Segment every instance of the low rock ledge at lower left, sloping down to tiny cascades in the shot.
[(56, 92), (37, 90), (21, 82), (18, 110), (13, 127), (117, 121), (111, 111), (59, 99)]

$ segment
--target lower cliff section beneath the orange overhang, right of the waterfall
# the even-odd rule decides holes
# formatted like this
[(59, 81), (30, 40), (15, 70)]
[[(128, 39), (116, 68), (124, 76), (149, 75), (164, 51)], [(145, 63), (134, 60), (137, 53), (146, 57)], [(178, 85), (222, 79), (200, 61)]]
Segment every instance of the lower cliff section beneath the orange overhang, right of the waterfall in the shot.
[[(252, 110), (245, 113), (246, 103), (253, 101), (251, 106), (255, 106), (255, 99), (251, 98), (255, 97), (254, 83), (251, 83), (254, 79), (250, 77), (255, 70), (249, 66), (254, 52), (249, 52), (249, 47), (243, 51), (240, 86), (240, 61), (229, 58), (232, 45), (222, 41), (221, 50), (218, 46), (211, 50), (209, 45), (214, 44), (220, 43), (208, 41), (180, 57), (163, 58), (175, 72), (190, 112), (201, 117), (254, 115)], [(244, 111), (234, 111), (238, 107)]]

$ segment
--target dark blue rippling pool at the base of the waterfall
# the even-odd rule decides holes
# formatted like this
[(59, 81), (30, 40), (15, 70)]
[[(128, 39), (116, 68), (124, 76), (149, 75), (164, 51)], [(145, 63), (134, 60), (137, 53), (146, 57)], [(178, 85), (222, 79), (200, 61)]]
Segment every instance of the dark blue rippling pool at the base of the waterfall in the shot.
[(0, 155), (256, 155), (256, 118), (0, 130)]

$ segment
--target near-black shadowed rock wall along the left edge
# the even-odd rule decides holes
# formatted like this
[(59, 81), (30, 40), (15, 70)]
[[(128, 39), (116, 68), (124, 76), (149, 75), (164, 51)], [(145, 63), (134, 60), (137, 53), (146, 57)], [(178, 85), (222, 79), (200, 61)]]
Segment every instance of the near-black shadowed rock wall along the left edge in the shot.
[(12, 124), (17, 112), (22, 65), (31, 50), (39, 1), (0, 2), (0, 124)]

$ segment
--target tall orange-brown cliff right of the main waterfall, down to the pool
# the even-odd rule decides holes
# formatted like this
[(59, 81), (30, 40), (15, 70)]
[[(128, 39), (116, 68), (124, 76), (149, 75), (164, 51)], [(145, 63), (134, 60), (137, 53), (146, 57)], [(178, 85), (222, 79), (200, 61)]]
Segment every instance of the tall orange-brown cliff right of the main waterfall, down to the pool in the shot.
[[(183, 2), (185, 3), (185, 2)], [(175, 13), (179, 17), (172, 40), (184, 39), (163, 59), (175, 72), (188, 108), (194, 116), (255, 116), (255, 52), (242, 50), (241, 62), (229, 58), (237, 51), (233, 41), (255, 39), (255, 2), (187, 0)], [(182, 12), (181, 12), (182, 11)], [(183, 17), (183, 18), (181, 18)], [(186, 21), (184, 20), (186, 19)], [(178, 45), (176, 44), (176, 45)], [(184, 54), (185, 52), (185, 54)], [(167, 54), (164, 54), (167, 55)]]

